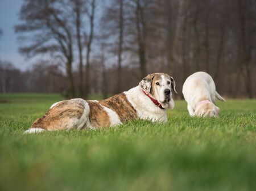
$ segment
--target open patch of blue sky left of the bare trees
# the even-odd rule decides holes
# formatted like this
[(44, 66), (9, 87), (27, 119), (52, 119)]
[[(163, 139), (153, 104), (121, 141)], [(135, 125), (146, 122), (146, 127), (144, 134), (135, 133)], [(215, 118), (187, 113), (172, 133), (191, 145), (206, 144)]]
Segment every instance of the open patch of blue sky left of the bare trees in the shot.
[(0, 0), (0, 60), (10, 61), (15, 67), (26, 70), (30, 61), (18, 51), (18, 35), (14, 32), (15, 24), (19, 23), (19, 10), (22, 0)]

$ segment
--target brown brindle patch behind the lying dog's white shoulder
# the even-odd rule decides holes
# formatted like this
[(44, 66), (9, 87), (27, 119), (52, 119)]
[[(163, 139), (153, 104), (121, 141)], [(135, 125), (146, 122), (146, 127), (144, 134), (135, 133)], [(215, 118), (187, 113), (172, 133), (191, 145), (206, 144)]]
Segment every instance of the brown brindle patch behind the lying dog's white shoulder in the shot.
[(133, 105), (127, 100), (124, 93), (109, 97), (109, 99), (99, 100), (99, 103), (109, 109), (115, 111), (121, 122), (126, 120), (134, 120), (138, 117)]

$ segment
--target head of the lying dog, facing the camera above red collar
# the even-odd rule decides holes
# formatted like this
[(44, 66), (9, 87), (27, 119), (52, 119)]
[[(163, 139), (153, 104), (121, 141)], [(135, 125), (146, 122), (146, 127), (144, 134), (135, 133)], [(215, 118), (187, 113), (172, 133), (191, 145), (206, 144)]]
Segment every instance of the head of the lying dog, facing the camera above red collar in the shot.
[(149, 94), (162, 105), (163, 108), (174, 108), (174, 100), (172, 100), (173, 90), (176, 94), (174, 78), (164, 73), (148, 74), (139, 82), (142, 90)]

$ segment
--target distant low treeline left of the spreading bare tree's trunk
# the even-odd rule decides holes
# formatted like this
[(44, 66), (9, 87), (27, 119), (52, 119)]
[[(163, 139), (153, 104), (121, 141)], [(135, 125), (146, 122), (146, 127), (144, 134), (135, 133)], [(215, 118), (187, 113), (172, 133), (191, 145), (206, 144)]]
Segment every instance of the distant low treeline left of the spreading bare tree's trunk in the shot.
[(11, 62), (0, 60), (0, 92), (60, 93), (65, 90), (65, 77), (59, 66), (40, 60), (30, 69), (20, 71)]

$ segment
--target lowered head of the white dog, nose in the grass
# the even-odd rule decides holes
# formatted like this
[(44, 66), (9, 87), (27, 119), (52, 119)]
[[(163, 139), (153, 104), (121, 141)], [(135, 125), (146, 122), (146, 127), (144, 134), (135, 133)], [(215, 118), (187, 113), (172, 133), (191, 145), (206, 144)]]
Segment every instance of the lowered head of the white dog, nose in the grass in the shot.
[(193, 116), (196, 117), (218, 117), (218, 112), (220, 112), (220, 108), (214, 105), (212, 102), (199, 105)]

